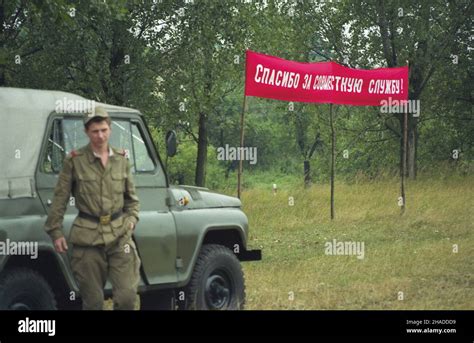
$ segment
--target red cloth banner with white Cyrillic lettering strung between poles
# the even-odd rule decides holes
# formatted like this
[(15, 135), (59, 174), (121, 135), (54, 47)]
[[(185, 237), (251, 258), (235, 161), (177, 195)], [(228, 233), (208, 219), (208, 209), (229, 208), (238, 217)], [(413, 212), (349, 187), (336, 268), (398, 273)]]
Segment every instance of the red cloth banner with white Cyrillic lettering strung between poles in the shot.
[(247, 50), (245, 95), (285, 101), (381, 106), (408, 99), (408, 67), (352, 69), (301, 63)]

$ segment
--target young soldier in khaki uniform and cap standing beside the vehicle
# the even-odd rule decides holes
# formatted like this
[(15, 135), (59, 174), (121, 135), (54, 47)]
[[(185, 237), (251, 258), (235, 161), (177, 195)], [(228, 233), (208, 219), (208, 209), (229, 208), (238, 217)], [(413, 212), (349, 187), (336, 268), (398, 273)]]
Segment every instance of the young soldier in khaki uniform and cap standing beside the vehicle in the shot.
[(133, 310), (137, 299), (140, 259), (132, 233), (139, 201), (125, 152), (108, 144), (110, 124), (103, 107), (84, 116), (89, 144), (65, 158), (45, 225), (56, 251), (65, 252), (62, 222), (72, 192), (79, 214), (69, 236), (71, 267), (84, 310), (102, 310), (107, 278), (114, 309)]

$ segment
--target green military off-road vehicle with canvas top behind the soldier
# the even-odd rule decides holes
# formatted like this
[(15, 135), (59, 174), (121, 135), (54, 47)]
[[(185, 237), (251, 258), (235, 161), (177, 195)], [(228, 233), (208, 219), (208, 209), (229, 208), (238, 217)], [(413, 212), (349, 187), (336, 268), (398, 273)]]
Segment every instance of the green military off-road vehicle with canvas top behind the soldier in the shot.
[[(71, 249), (57, 253), (44, 224), (65, 156), (88, 142), (81, 111), (87, 104), (65, 92), (0, 88), (0, 309), (81, 308)], [(247, 247), (240, 200), (170, 185), (144, 116), (95, 105), (112, 118), (110, 144), (127, 152), (140, 198), (134, 240), (142, 261), (141, 309), (242, 309), (240, 262), (260, 260), (261, 251)], [(176, 135), (166, 138), (173, 156)], [(76, 215), (72, 196), (66, 237)]]

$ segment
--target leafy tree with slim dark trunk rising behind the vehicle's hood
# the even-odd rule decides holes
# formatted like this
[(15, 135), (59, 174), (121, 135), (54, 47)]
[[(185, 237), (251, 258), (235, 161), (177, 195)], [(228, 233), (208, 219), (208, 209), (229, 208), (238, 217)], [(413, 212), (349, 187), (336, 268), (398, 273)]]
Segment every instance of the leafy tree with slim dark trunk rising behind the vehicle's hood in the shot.
[[(241, 86), (252, 4), (193, 1), (164, 18), (166, 37), (155, 42), (168, 66), (160, 74), (162, 109), (197, 143), (195, 184), (206, 182), (209, 120), (214, 109)], [(175, 120), (177, 121), (177, 120)], [(195, 132), (197, 130), (197, 133)]]

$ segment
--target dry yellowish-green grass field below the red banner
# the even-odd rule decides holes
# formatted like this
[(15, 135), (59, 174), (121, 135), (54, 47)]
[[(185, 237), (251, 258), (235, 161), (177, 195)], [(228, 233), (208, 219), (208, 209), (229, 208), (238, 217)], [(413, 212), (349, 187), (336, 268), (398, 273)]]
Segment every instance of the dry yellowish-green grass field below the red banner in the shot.
[[(472, 175), (409, 182), (404, 215), (396, 179), (336, 183), (333, 221), (328, 185), (287, 181), (243, 192), (263, 250), (244, 263), (247, 309), (474, 309)], [(326, 255), (333, 239), (364, 242), (365, 257)]]

